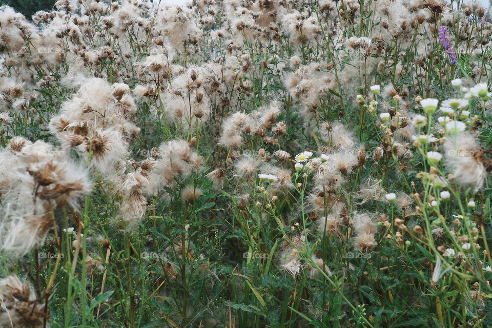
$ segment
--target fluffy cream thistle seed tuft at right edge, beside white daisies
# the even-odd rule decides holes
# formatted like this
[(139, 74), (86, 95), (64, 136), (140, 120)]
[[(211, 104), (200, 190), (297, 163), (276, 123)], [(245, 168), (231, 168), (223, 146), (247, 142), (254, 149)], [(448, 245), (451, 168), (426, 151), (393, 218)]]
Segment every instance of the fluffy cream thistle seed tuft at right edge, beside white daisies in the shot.
[[(475, 137), (467, 132), (449, 136), (444, 142), (445, 163), (453, 171), (453, 179), (474, 192), (483, 187), (490, 160), (483, 154)], [(485, 165), (484, 165), (485, 164)]]

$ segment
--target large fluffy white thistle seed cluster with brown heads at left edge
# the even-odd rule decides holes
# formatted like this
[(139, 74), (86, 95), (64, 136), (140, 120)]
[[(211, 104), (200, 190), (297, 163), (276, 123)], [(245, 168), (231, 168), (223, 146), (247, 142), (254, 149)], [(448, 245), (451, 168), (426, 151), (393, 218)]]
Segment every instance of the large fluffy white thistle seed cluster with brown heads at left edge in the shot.
[(15, 138), (0, 158), (0, 248), (22, 256), (43, 244), (55, 208), (77, 209), (92, 182), (86, 167), (44, 141)]

